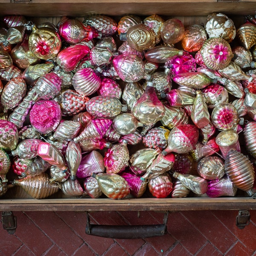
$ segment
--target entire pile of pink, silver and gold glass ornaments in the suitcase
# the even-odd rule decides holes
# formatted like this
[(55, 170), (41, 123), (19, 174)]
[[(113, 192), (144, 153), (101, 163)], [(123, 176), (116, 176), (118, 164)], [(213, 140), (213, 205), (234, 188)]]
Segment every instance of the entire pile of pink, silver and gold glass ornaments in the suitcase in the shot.
[(159, 15), (3, 17), (0, 195), (253, 195), (256, 18), (246, 18), (236, 28), (221, 13), (188, 27)]

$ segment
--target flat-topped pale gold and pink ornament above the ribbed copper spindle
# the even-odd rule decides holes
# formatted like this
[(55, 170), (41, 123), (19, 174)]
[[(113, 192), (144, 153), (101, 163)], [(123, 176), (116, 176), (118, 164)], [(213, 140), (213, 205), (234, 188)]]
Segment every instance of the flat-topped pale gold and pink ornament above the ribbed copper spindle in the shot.
[(217, 135), (216, 143), (218, 144), (224, 158), (227, 157), (227, 154), (231, 149), (239, 152), (241, 151), (238, 139), (239, 136), (234, 130), (221, 131)]

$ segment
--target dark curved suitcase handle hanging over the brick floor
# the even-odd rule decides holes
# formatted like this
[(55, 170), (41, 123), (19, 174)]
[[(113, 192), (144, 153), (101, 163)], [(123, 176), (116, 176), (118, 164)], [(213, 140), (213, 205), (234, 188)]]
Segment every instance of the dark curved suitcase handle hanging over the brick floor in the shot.
[(155, 225), (98, 225), (90, 224), (90, 217), (87, 214), (85, 233), (91, 236), (107, 237), (112, 239), (142, 239), (153, 236), (163, 236), (168, 220), (167, 211), (163, 218), (163, 224)]

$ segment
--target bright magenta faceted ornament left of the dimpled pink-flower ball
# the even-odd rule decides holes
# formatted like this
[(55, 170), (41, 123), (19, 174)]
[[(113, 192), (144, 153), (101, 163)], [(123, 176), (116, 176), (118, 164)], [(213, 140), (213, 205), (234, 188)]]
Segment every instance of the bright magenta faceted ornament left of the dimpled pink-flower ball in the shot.
[(196, 62), (191, 54), (184, 51), (182, 56), (168, 58), (165, 67), (171, 76), (175, 76), (180, 73), (194, 72), (196, 70)]

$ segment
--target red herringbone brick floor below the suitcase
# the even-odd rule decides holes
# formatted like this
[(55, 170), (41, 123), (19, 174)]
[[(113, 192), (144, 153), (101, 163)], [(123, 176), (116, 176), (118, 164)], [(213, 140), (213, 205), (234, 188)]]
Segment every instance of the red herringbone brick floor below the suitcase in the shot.
[[(256, 211), (236, 227), (238, 211), (169, 214), (167, 234), (146, 239), (109, 239), (85, 234), (84, 212), (14, 212), (17, 230), (0, 228), (0, 256), (255, 256)], [(92, 212), (92, 224), (162, 224), (163, 213)]]

